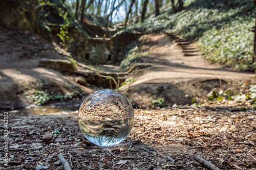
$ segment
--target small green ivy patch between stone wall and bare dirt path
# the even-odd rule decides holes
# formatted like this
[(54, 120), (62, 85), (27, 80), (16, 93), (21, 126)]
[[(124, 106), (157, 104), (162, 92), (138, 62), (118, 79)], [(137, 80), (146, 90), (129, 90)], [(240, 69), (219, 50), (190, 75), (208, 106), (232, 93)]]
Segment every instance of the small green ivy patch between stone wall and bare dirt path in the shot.
[(136, 62), (141, 62), (143, 57), (147, 57), (150, 53), (140, 53), (138, 46), (132, 48), (121, 61), (120, 70), (127, 71), (129, 67)]

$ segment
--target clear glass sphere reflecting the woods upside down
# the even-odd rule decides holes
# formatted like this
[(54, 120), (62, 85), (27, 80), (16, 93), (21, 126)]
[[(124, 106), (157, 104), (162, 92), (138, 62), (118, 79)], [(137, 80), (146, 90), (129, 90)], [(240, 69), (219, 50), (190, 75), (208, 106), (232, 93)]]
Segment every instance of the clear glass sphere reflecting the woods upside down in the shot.
[(133, 106), (115, 90), (98, 90), (82, 102), (78, 123), (82, 134), (92, 143), (103, 147), (116, 145), (132, 131)]

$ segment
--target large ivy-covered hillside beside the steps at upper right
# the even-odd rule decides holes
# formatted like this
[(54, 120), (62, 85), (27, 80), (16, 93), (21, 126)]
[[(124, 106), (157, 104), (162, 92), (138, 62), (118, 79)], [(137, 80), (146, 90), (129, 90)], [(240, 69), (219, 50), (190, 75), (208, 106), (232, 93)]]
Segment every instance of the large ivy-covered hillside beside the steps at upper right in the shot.
[[(148, 18), (143, 25), (147, 33), (174, 32), (188, 40), (198, 40), (201, 53), (211, 62), (240, 70), (253, 70), (252, 43), (254, 6), (252, 1), (187, 0), (183, 11), (172, 10)], [(132, 28), (130, 28), (132, 29)]]

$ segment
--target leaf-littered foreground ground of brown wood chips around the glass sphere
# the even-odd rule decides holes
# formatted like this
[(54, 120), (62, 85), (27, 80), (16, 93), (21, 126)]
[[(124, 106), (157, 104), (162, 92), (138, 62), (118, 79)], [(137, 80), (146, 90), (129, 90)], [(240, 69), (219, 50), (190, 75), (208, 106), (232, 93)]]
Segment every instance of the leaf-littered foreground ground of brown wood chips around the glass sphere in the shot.
[(236, 106), (233, 102), (136, 109), (131, 134), (108, 148), (84, 140), (77, 111), (53, 115), (12, 111), (9, 134), (1, 136), (2, 143), (8, 143), (8, 152), (0, 150), (1, 169), (5, 169), (5, 153), (9, 169), (64, 169), (58, 154), (72, 169), (206, 169), (194, 154), (221, 169), (255, 169), (255, 110), (240, 111)]

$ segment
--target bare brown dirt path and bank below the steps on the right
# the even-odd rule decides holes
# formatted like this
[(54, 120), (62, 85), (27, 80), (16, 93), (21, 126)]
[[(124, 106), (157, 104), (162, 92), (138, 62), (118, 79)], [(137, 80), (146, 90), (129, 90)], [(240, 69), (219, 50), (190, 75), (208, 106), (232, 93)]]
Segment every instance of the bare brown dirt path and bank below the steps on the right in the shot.
[(232, 84), (233, 91), (237, 92), (239, 81), (255, 81), (252, 73), (210, 64), (193, 45), (185, 45), (188, 50), (184, 50), (165, 34), (145, 35), (144, 39), (140, 48), (150, 52), (146, 62), (154, 65), (139, 70), (135, 76), (137, 81), (122, 89), (138, 107), (148, 108), (156, 98), (164, 98), (168, 105), (190, 104), (191, 98), (185, 97), (186, 94), (205, 98), (211, 89), (225, 90), (227, 84)]

